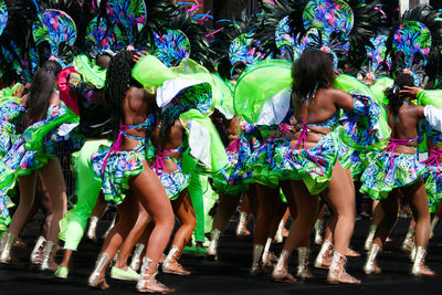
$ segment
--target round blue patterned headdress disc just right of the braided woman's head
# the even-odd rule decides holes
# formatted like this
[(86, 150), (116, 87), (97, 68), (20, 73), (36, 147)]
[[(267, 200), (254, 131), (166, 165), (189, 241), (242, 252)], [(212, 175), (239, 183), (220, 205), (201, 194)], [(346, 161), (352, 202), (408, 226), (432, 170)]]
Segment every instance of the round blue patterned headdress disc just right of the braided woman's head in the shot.
[(180, 30), (166, 30), (165, 34), (154, 33), (155, 52), (166, 66), (176, 66), (182, 59), (190, 56), (190, 42), (187, 35)]

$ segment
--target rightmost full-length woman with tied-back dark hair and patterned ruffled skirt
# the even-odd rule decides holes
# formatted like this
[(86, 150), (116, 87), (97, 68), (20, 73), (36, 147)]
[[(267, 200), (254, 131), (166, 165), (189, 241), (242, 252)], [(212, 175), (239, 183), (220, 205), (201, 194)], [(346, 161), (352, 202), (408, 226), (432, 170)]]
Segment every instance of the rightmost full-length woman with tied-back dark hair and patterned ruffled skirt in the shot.
[(412, 106), (411, 93), (402, 93), (406, 86), (413, 86), (414, 78), (409, 74), (400, 74), (394, 85), (388, 89), (389, 125), (392, 138), (386, 150), (375, 155), (361, 180), (361, 192), (380, 200), (385, 215), (379, 223), (373, 242), (367, 256), (364, 271), (367, 274), (380, 273), (376, 259), (383, 246), (388, 233), (398, 218), (399, 189), (410, 204), (415, 220), (415, 259), (412, 275), (434, 275), (424, 265), (427, 245), (430, 238), (430, 213), (427, 193), (422, 181), (424, 166), (417, 159), (419, 141), (418, 123), (425, 118), (424, 107)]

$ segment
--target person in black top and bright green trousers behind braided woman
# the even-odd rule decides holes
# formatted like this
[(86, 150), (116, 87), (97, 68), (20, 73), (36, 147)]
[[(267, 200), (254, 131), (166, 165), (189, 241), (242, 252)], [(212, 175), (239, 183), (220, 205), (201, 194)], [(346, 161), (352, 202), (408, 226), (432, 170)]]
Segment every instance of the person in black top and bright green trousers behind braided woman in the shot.
[(74, 65), (77, 65), (83, 81), (78, 81), (76, 72), (71, 72), (66, 76), (69, 80), (66, 84), (72, 87), (71, 92), (74, 92), (76, 97), (72, 101), (76, 101), (75, 108), (80, 114), (78, 128), (86, 140), (82, 149), (73, 156), (77, 203), (71, 212), (67, 212), (61, 223), (63, 226), (60, 236), (64, 240), (64, 255), (62, 264), (54, 273), (60, 278), (69, 276), (72, 254), (78, 247), (87, 219), (92, 214), (102, 188), (101, 182), (93, 177), (88, 160), (99, 146), (110, 146), (112, 144), (107, 139), (110, 136), (112, 126), (103, 93), (109, 62), (110, 56), (102, 54), (97, 57), (96, 66), (94, 66), (86, 55), (77, 55), (74, 57)]

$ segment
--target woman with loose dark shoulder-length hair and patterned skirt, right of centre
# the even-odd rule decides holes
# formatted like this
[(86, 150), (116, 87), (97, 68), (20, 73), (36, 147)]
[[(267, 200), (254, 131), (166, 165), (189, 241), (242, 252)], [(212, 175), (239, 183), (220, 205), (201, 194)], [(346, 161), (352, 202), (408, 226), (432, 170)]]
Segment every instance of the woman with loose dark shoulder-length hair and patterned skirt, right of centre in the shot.
[[(292, 188), (298, 214), (272, 276), (277, 281), (294, 281), (287, 271), (288, 257), (294, 249), (308, 247), (320, 193), (337, 215), (333, 224), (335, 251), (327, 280), (334, 284), (358, 284), (360, 281), (345, 271), (345, 253), (356, 215), (352, 181), (337, 160), (339, 144), (333, 130), (338, 125), (339, 109), (368, 115), (368, 97), (332, 88), (330, 83), (335, 80), (332, 56), (318, 50), (304, 51), (293, 66), (292, 76), (297, 124), (295, 139), (290, 147), (285, 147), (288, 150), (285, 152), (284, 169), (292, 169)], [(288, 201), (291, 206), (292, 201)]]

